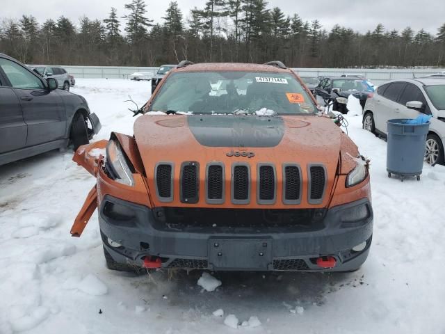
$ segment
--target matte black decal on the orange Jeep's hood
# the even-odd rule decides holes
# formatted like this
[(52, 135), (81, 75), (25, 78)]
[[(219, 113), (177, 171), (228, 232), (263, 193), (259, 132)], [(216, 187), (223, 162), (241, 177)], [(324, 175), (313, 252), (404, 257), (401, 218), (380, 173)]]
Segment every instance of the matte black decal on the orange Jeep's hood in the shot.
[(281, 117), (197, 115), (188, 116), (195, 139), (213, 148), (273, 148), (284, 136)]

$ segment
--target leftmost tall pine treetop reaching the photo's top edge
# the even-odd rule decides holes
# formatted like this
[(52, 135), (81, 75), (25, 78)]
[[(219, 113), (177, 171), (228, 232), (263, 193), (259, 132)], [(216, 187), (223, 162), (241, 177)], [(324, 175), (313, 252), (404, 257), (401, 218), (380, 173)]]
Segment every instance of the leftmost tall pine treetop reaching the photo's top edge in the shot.
[(132, 0), (124, 7), (130, 10), (129, 15), (123, 17), (127, 19), (125, 31), (128, 33), (129, 42), (132, 44), (140, 42), (147, 35), (147, 28), (153, 26), (153, 20), (144, 16), (147, 13), (147, 5), (144, 0)]

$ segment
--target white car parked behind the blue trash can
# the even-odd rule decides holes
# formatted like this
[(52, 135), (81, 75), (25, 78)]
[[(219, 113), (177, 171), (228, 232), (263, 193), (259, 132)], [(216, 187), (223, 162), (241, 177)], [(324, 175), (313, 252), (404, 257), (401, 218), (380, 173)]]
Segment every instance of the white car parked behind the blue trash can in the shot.
[(426, 139), (428, 164), (444, 164), (445, 79), (420, 78), (389, 81), (366, 102), (363, 128), (387, 136), (387, 120), (431, 115)]

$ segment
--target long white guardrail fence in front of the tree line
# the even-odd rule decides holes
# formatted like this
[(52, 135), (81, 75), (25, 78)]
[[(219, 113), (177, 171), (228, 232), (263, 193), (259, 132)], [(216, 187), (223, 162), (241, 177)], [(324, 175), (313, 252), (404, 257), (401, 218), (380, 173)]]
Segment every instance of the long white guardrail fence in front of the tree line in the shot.
[[(63, 66), (75, 78), (108, 78), (129, 79), (133, 72), (156, 73), (159, 67), (125, 67), (125, 66)], [(422, 77), (428, 74), (441, 72), (444, 69), (351, 69), (351, 68), (293, 68), (301, 77), (332, 76), (339, 77), (341, 74), (362, 74), (376, 85), (385, 83), (392, 79), (408, 79), (413, 74)]]

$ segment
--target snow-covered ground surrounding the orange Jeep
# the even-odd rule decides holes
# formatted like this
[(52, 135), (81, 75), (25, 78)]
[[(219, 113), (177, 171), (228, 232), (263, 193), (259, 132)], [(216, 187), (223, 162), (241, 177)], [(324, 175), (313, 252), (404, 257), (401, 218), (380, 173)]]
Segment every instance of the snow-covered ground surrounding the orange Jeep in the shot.
[[(149, 82), (77, 83), (102, 121), (95, 140), (133, 133), (124, 100), (142, 105)], [(347, 120), (371, 159), (375, 213), (371, 253), (355, 273), (212, 273), (218, 286), (200, 271), (108, 271), (96, 214), (70, 237), (95, 182), (72, 152), (0, 166), (0, 333), (444, 334), (445, 168), (424, 166), (420, 182), (389, 179), (385, 141), (362, 130), (361, 116)]]

